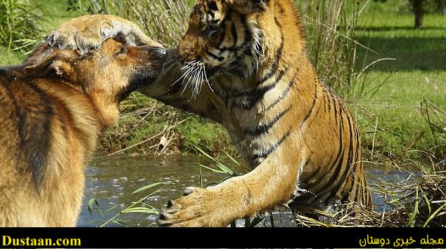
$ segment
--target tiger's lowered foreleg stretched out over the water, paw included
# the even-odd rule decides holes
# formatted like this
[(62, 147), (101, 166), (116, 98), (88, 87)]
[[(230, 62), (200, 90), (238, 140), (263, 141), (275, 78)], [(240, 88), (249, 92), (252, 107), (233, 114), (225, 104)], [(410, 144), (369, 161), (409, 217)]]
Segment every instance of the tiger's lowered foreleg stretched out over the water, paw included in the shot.
[[(241, 217), (257, 215), (288, 203), (298, 180), (297, 157), (272, 154), (250, 173), (233, 177), (214, 187), (189, 187), (185, 195), (167, 203), (158, 219), (160, 226), (225, 227)], [(277, 163), (281, 162), (281, 163)]]

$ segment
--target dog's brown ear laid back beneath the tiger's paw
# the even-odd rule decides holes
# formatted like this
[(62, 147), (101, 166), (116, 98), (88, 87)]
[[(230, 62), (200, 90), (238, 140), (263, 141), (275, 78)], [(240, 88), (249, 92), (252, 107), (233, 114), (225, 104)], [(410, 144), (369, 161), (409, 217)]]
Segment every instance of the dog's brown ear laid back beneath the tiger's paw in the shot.
[(25, 67), (25, 73), (36, 77), (56, 74), (70, 78), (73, 74), (73, 56), (70, 51), (51, 49), (42, 55), (32, 58)]

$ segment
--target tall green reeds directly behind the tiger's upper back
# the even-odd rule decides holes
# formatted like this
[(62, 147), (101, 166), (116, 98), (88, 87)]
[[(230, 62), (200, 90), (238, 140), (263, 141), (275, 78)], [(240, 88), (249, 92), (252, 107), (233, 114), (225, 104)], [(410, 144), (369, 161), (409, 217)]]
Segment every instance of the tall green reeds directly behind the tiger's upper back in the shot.
[(362, 1), (300, 0), (307, 51), (324, 83), (342, 90), (355, 83), (355, 41)]

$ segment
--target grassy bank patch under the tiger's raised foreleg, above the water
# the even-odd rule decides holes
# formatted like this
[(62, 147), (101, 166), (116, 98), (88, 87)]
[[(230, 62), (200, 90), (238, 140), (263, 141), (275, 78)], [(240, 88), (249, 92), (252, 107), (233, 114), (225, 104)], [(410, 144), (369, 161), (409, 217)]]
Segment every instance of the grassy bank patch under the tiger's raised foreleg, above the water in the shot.
[[(145, 112), (131, 116), (143, 108)], [(120, 109), (124, 115), (118, 126), (108, 130), (101, 142), (100, 151), (106, 154), (134, 144), (139, 145), (125, 150), (126, 154), (185, 153), (196, 151), (195, 146), (212, 155), (222, 149), (236, 154), (229, 135), (219, 124), (165, 106), (141, 93), (132, 93)]]

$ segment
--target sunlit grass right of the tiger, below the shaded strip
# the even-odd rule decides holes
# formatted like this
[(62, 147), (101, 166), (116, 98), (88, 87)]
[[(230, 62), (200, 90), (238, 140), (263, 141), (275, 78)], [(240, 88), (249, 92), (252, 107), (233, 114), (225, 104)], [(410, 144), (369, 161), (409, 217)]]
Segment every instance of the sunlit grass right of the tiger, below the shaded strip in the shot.
[(446, 141), (434, 143), (420, 104), (426, 99), (446, 109), (446, 72), (371, 72), (367, 77), (367, 86), (356, 86), (348, 96), (350, 110), (361, 126), (362, 146), (402, 158), (411, 150), (430, 151), (440, 145), (433, 153), (441, 156)]

